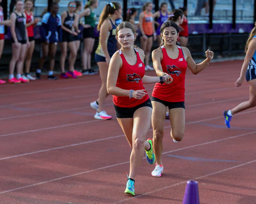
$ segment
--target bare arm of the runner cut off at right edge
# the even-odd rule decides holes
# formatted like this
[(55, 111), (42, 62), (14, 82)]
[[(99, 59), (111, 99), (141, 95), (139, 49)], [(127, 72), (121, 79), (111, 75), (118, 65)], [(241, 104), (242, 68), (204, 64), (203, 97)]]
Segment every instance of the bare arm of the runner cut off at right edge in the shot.
[(253, 56), (255, 50), (256, 50), (256, 38), (253, 38), (248, 45), (248, 50), (244, 57), (244, 62), (243, 62), (242, 68), (241, 68), (240, 77), (236, 80), (236, 83), (235, 83), (235, 85), (237, 87), (241, 86), (241, 84), (243, 83), (246, 69), (248, 67), (250, 60), (252, 59), (252, 56)]

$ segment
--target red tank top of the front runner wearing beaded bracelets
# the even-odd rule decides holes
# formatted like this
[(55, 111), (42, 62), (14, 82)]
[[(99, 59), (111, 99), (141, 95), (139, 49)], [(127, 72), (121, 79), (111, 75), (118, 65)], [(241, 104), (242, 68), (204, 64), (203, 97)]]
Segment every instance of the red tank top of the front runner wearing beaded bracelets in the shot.
[[(119, 50), (119, 55), (122, 58), (122, 67), (119, 69), (116, 87), (124, 90), (143, 90), (142, 78), (145, 75), (145, 65), (140, 59), (138, 50), (134, 49), (137, 55), (137, 62), (135, 65), (130, 65), (126, 61), (123, 53)], [(147, 92), (147, 91), (145, 91)], [(144, 103), (148, 100), (148, 95), (141, 99), (129, 98), (128, 96), (114, 96), (113, 102), (118, 107), (132, 108)]]

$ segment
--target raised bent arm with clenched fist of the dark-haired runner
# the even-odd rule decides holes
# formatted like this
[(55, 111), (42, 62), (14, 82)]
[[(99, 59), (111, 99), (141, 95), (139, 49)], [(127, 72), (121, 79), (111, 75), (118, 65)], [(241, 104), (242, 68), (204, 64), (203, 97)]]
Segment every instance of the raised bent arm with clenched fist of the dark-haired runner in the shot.
[(190, 69), (193, 74), (198, 74), (199, 72), (203, 71), (204, 68), (209, 65), (209, 62), (211, 62), (213, 58), (213, 52), (208, 49), (207, 51), (205, 51), (206, 59), (203, 62), (196, 64), (188, 48), (182, 47), (182, 50), (185, 57), (187, 58), (188, 69)]

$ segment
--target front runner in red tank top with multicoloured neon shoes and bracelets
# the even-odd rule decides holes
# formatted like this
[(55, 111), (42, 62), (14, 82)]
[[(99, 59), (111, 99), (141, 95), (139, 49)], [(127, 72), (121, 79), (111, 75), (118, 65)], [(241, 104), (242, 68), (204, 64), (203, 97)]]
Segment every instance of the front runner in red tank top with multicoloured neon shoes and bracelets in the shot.
[(133, 25), (127, 21), (116, 28), (116, 38), (121, 49), (111, 57), (107, 90), (113, 94), (116, 118), (127, 141), (132, 147), (130, 173), (124, 193), (134, 195), (134, 179), (143, 158), (144, 149), (147, 161), (155, 162), (152, 139), (146, 141), (150, 126), (152, 105), (143, 84), (170, 83), (171, 76), (149, 77), (145, 74), (144, 52), (134, 48), (136, 33)]

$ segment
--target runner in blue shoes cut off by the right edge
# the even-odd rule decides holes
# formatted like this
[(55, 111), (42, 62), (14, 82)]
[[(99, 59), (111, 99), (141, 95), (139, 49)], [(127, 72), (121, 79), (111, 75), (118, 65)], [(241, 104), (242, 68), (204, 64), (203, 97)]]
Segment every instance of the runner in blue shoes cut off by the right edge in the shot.
[(244, 76), (250, 85), (249, 100), (240, 103), (231, 110), (224, 111), (225, 124), (230, 128), (232, 116), (238, 112), (256, 106), (256, 22), (245, 45), (244, 63), (241, 68), (240, 77), (236, 80), (237, 87), (243, 84)]

